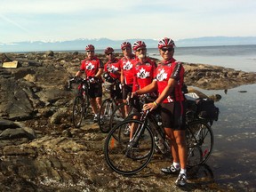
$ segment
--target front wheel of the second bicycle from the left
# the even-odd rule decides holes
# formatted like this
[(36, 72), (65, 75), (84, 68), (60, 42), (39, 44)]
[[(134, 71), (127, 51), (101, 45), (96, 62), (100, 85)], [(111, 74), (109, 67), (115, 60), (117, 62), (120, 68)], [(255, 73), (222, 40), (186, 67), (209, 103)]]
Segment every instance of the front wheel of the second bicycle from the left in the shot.
[(109, 132), (110, 131), (110, 116), (114, 110), (113, 101), (110, 99), (103, 100), (100, 106), (100, 116), (103, 116), (103, 121), (99, 119), (99, 126), (101, 132)]

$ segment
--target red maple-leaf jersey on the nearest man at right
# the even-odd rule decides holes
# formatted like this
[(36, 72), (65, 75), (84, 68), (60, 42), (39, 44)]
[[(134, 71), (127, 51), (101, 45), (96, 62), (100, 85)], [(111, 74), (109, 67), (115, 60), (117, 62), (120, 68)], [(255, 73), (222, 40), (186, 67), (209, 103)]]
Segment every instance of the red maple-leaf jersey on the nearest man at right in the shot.
[(164, 91), (164, 88), (167, 86), (170, 78), (175, 79), (177, 84), (163, 103), (184, 100), (184, 96), (181, 91), (184, 82), (184, 68), (180, 62), (177, 62), (174, 59), (162, 62), (156, 68), (156, 81), (159, 94)]

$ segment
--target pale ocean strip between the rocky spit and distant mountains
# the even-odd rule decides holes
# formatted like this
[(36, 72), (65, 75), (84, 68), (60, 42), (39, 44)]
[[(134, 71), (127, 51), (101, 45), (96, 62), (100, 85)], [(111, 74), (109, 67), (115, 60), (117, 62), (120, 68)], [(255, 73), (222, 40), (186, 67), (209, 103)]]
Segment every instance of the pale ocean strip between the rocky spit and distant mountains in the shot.
[[(148, 48), (148, 56), (161, 60), (158, 49)], [(256, 72), (255, 45), (176, 47), (174, 58), (189, 63), (210, 64)]]

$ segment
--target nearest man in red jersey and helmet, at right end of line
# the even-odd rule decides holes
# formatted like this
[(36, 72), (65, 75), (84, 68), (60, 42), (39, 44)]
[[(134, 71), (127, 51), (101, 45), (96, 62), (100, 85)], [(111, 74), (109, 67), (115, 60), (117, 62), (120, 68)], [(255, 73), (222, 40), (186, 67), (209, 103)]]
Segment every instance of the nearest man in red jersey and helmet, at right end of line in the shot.
[(161, 116), (164, 131), (171, 140), (173, 162), (170, 167), (161, 169), (164, 173), (178, 174), (177, 186), (187, 183), (187, 147), (185, 137), (184, 95), (181, 91), (184, 80), (184, 68), (173, 58), (174, 42), (171, 38), (163, 38), (158, 43), (158, 49), (163, 61), (156, 68), (156, 78), (148, 86), (132, 92), (133, 95), (158, 91), (158, 98), (143, 106), (153, 110), (161, 104)]

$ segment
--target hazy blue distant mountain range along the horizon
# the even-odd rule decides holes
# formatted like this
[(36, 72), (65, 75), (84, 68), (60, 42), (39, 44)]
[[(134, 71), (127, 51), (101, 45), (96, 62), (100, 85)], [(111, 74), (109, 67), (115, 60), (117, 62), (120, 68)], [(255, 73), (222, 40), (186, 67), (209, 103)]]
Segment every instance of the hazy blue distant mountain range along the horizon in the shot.
[[(140, 39), (147, 44), (148, 48), (156, 48), (158, 40), (156, 39)], [(111, 40), (108, 38), (100, 39), (76, 39), (70, 41), (58, 41), (58, 42), (16, 42), (12, 44), (1, 44), (0, 52), (44, 52), (48, 50), (52, 51), (75, 51), (84, 50), (87, 44), (93, 44), (96, 49), (102, 50), (108, 46), (115, 49), (120, 49), (120, 44), (124, 41), (131, 43), (138, 41), (138, 39), (126, 39), (126, 40)], [(216, 45), (236, 45), (236, 44), (256, 44), (256, 36), (205, 36), (199, 38), (187, 38), (175, 41), (176, 46), (188, 47), (188, 46), (216, 46)]]

